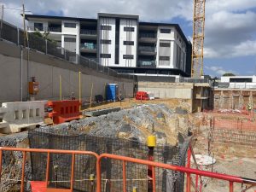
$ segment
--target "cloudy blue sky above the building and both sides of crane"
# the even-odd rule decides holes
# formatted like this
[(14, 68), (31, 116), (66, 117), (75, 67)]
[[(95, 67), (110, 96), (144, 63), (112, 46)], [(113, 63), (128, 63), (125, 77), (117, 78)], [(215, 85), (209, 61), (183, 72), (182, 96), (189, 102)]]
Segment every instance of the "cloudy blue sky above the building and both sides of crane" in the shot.
[[(37, 15), (96, 18), (98, 12), (139, 15), (143, 21), (177, 23), (192, 37), (193, 0), (24, 0)], [(0, 0), (21, 9), (23, 0)], [(4, 20), (21, 25), (20, 11), (5, 9)], [(204, 73), (256, 75), (256, 0), (207, 0)]]

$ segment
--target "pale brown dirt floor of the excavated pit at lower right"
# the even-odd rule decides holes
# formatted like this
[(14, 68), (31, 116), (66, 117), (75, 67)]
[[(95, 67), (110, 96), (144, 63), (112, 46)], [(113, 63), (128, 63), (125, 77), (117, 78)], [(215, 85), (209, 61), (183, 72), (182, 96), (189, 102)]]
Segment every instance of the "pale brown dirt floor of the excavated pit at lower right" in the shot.
[[(208, 147), (207, 136), (207, 126), (201, 126), (196, 136), (194, 152), (207, 155), (210, 153), (216, 159), (216, 163), (213, 166), (203, 166), (202, 170), (256, 179), (256, 148), (233, 143), (210, 143), (210, 147)], [(234, 191), (241, 191), (245, 188), (245, 184), (234, 183)], [(203, 177), (202, 189), (207, 192), (229, 191), (229, 183)], [(255, 192), (256, 186), (247, 191)]]

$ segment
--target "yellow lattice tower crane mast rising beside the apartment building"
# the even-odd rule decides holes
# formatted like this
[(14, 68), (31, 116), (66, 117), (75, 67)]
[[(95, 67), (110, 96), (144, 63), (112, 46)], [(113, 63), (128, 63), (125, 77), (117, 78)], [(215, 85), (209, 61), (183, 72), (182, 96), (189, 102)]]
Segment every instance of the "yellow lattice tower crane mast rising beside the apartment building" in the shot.
[(191, 77), (203, 75), (206, 0), (194, 0)]

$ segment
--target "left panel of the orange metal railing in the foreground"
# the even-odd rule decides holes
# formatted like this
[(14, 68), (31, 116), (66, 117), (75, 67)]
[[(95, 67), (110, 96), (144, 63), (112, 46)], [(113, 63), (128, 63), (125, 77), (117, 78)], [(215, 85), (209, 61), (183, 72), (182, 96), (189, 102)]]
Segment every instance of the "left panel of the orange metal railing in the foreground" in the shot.
[[(32, 157), (33, 157), (33, 155), (40, 154), (39, 156), (41, 158), (44, 158), (44, 160), (42, 160), (42, 161), (44, 161), (44, 164), (39, 165), (41, 167), (39, 170), (40, 172), (37, 172), (38, 177), (32, 177), (32, 180), (31, 180), (31, 177), (29, 176), (29, 167), (28, 167), (29, 162), (27, 161), (27, 159), (29, 159), (29, 158), (27, 158), (29, 156), (29, 154), (26, 154), (26, 152), (30, 152)], [(29, 184), (26, 182), (28, 180), (40, 182), (40, 183), (38, 183), (38, 185), (37, 185), (37, 183), (32, 183), (33, 189), (35, 191), (39, 190), (37, 192), (44, 192), (45, 185), (43, 183), (41, 183), (42, 181), (47, 183), (47, 190), (45, 192), (56, 191), (56, 190), (53, 190), (55, 188), (58, 188), (58, 189), (62, 188), (63, 189), (63, 190), (61, 190), (62, 192), (76, 191), (76, 190), (74, 190), (74, 186), (75, 186), (74, 184), (76, 183), (76, 181), (75, 181), (75, 175), (76, 175), (75, 161), (76, 161), (76, 159), (78, 157), (84, 156), (84, 157), (92, 158), (96, 161), (98, 158), (98, 155), (96, 153), (93, 153), (90, 151), (71, 151), (71, 150), (56, 150), (56, 149), (42, 149), (42, 148), (41, 149), (38, 149), (38, 148), (0, 148), (0, 173), (2, 173), (2, 170), (9, 167), (9, 163), (12, 161), (11, 155), (14, 155), (14, 154), (20, 155), (20, 161), (21, 161), (21, 165), (20, 165), (21, 167), (19, 170), (21, 172), (15, 172), (15, 175), (18, 175), (18, 176), (20, 175), (20, 177), (18, 178), (18, 180), (21, 181), (20, 187), (19, 187), (20, 192), (27, 191), (26, 188), (27, 189), (30, 188)], [(64, 181), (63, 180), (60, 181), (60, 179), (55, 180), (56, 177), (52, 177), (52, 175), (55, 176), (55, 174), (52, 171), (55, 170), (56, 166), (58, 166), (58, 165), (54, 164), (54, 162), (53, 162), (53, 156), (57, 155), (57, 154), (62, 155), (63, 158), (65, 157), (65, 155), (71, 157), (71, 160), (65, 164), (65, 167), (63, 167), (63, 168), (65, 168), (66, 172), (61, 172), (63, 175), (68, 176), (68, 177), (65, 177), (66, 180), (64, 180)], [(96, 166), (96, 164), (93, 166)], [(59, 168), (61, 169), (62, 167), (59, 167)], [(88, 167), (86, 167), (86, 168), (88, 169)], [(35, 172), (35, 171), (32, 170), (32, 172)], [(34, 179), (34, 178), (36, 178), (36, 179)], [(0, 175), (0, 182), (1, 182), (1, 179), (3, 179), (2, 174)], [(61, 179), (62, 179), (62, 177), (61, 177)], [(89, 180), (89, 179), (84, 179), (84, 181), (86, 181), (86, 180)], [(65, 183), (65, 184), (59, 185), (57, 183), (57, 181), (60, 181), (61, 183)], [(2, 184), (4, 185), (4, 183), (2, 183)], [(2, 185), (2, 187), (3, 187), (3, 185)], [(36, 187), (36, 188), (34, 188), (34, 187)], [(34, 191), (32, 191), (32, 192), (34, 192)]]

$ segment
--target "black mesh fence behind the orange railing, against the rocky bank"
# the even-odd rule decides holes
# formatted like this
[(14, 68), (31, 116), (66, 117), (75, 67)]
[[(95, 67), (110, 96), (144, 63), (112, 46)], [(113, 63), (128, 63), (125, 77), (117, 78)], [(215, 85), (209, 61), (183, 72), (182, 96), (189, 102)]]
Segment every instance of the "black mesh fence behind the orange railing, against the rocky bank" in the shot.
[[(39, 128), (29, 131), (30, 148), (55, 148), (69, 150), (88, 150), (97, 154), (119, 154), (128, 157), (148, 160), (148, 146), (137, 139), (126, 140), (109, 137), (92, 137), (70, 131), (55, 131)], [(158, 146), (154, 148), (154, 161), (185, 166), (189, 143), (178, 146)], [(44, 181), (46, 154), (31, 154), (32, 180)], [(68, 188), (72, 156), (67, 154), (50, 155), (50, 185)], [(102, 191), (122, 191), (122, 162), (119, 160), (102, 160)], [(156, 191), (183, 191), (184, 174), (156, 168)], [(74, 191), (91, 191), (90, 174), (96, 175), (96, 160), (93, 157), (76, 155), (74, 168)], [(148, 166), (126, 163), (127, 191), (137, 187), (138, 191), (148, 189)]]

